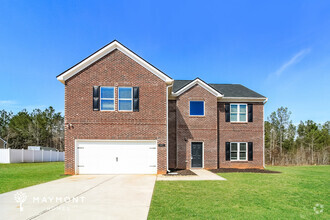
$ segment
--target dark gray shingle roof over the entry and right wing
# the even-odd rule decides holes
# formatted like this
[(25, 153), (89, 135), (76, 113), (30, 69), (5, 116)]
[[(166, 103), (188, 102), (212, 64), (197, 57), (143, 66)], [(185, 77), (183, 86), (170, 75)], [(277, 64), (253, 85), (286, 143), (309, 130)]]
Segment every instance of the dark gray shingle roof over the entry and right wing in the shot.
[[(174, 80), (173, 92), (179, 91), (194, 80)], [(265, 98), (265, 96), (246, 88), (241, 84), (208, 84), (224, 97), (248, 97), (248, 98)]]

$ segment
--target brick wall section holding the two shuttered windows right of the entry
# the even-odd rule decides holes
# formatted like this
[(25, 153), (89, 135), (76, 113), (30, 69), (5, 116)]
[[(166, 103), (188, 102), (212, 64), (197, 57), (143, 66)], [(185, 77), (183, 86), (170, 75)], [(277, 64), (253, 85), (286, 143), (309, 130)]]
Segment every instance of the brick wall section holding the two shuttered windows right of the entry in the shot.
[[(220, 168), (263, 168), (263, 103), (253, 104), (253, 122), (225, 121), (225, 103), (218, 103)], [(253, 161), (226, 161), (226, 142), (253, 142)]]

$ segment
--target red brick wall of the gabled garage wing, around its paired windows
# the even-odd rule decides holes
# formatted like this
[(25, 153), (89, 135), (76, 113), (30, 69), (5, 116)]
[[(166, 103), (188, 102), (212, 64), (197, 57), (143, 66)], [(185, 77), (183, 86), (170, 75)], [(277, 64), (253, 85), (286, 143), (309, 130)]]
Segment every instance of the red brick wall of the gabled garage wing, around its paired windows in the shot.
[[(93, 111), (93, 86), (140, 87), (139, 112)], [(68, 129), (67, 125), (73, 128)], [(65, 173), (74, 174), (75, 139), (157, 140), (166, 144), (166, 84), (119, 50), (66, 81)], [(166, 147), (158, 148), (158, 172), (166, 172)]]

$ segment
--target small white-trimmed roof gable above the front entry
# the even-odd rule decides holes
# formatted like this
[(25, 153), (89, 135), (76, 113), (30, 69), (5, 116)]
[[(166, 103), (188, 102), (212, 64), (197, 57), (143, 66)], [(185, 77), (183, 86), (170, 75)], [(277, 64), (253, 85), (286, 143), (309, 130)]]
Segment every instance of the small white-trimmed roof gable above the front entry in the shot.
[(195, 80), (191, 80), (190, 82), (189, 82), (189, 80), (181, 80), (181, 86), (182, 87), (180, 89), (178, 89), (176, 87), (173, 88), (172, 95), (173, 96), (180, 96), (181, 94), (183, 94), (184, 92), (186, 92), (187, 90), (189, 90), (190, 88), (192, 88), (195, 85), (200, 85), (201, 87), (203, 87), (204, 89), (209, 91), (211, 94), (215, 95), (216, 97), (223, 97), (222, 93), (220, 93), (219, 91), (217, 91), (212, 86), (205, 83), (203, 80), (201, 80), (199, 78), (196, 78)]

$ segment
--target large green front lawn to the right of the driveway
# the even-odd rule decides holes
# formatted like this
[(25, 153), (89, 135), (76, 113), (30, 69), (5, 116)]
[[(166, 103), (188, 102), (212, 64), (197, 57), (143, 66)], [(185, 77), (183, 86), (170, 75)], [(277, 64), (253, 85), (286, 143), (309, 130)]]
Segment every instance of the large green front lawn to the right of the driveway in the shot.
[[(158, 181), (149, 219), (330, 219), (330, 166), (221, 173), (227, 181)], [(315, 214), (315, 204), (324, 205)]]

